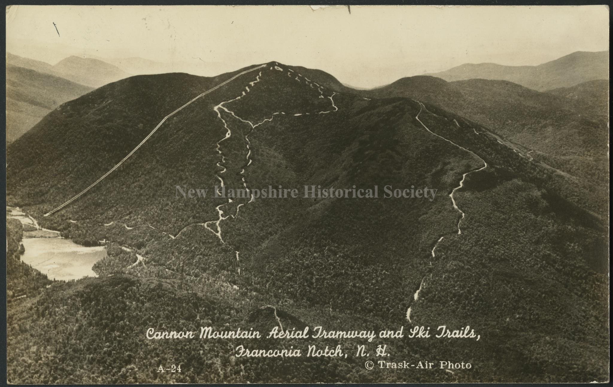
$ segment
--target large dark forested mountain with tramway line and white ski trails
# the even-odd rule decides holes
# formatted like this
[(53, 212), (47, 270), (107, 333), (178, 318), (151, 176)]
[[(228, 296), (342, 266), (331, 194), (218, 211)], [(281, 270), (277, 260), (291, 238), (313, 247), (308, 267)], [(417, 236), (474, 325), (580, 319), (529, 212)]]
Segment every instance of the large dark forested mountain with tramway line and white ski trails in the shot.
[[(9, 305), (12, 383), (608, 378), (607, 219), (598, 187), (436, 104), (365, 96), (302, 67), (256, 67), (110, 83), (61, 105), (9, 146), (11, 204), (78, 243), (109, 243), (109, 257), (94, 267), (100, 277)], [(43, 216), (109, 171), (164, 117), (235, 75), (167, 118), (77, 201)], [(211, 193), (221, 182), (438, 191), (433, 201), (381, 192), (177, 197), (176, 186)], [(278, 322), (375, 331), (470, 324), (481, 340), (405, 338), (388, 343), (390, 359), (479, 366), (368, 371), (353, 356), (235, 358), (230, 340), (160, 343), (144, 335), (148, 327)], [(155, 372), (172, 359), (185, 364), (181, 374)], [(58, 370), (55, 361), (69, 366)], [(35, 362), (36, 372), (20, 366)]]

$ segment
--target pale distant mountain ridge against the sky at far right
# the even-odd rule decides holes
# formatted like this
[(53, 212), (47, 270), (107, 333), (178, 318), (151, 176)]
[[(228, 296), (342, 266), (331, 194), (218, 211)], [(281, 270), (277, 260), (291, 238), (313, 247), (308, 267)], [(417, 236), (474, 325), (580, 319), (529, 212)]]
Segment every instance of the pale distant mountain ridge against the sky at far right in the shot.
[(570, 87), (590, 80), (609, 79), (609, 52), (577, 51), (538, 66), (504, 66), (495, 63), (466, 63), (438, 77), (452, 82), (466, 79), (508, 80), (537, 91)]

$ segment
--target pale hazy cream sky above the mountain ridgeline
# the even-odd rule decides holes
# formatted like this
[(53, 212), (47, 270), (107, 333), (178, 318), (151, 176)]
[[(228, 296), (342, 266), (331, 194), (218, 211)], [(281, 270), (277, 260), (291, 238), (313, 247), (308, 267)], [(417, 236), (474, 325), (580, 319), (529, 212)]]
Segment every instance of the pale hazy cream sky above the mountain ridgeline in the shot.
[[(58, 33), (53, 23), (56, 24)], [(281, 63), (371, 87), (463, 63), (540, 64), (609, 49), (604, 6), (12, 6), (7, 51), (48, 63), (68, 55)], [(204, 62), (203, 62), (204, 61)], [(213, 74), (207, 74), (213, 75)]]

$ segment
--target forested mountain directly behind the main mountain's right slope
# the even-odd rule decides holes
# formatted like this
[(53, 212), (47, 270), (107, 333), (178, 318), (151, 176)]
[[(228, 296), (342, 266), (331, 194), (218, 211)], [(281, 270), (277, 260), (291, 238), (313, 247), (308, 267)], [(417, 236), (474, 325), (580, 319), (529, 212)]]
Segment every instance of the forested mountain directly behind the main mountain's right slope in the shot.
[(516, 83), (484, 79), (446, 82), (409, 77), (365, 95), (421, 99), (455, 112), (525, 147), (531, 157), (585, 184), (605, 188), (602, 194), (606, 197), (609, 123), (603, 87), (608, 95), (608, 82), (606, 86), (600, 82), (576, 86), (585, 98), (600, 101), (589, 109), (562, 91), (540, 93)]

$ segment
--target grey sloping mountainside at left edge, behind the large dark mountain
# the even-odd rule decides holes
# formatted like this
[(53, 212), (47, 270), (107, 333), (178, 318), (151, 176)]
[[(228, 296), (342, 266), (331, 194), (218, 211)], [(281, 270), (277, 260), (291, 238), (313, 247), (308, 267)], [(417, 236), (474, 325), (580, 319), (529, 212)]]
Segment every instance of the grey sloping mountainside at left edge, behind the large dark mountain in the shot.
[(6, 66), (6, 140), (20, 137), (42, 117), (66, 101), (93, 90), (55, 75)]

